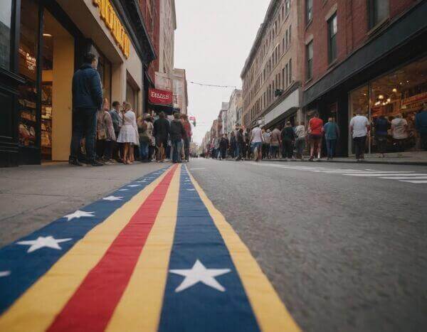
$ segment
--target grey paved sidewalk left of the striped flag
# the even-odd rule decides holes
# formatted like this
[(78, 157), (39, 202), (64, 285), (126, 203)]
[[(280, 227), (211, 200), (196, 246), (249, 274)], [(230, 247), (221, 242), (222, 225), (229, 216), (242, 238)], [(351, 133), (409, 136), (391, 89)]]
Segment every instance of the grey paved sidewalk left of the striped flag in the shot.
[(169, 164), (0, 168), (0, 247)]

